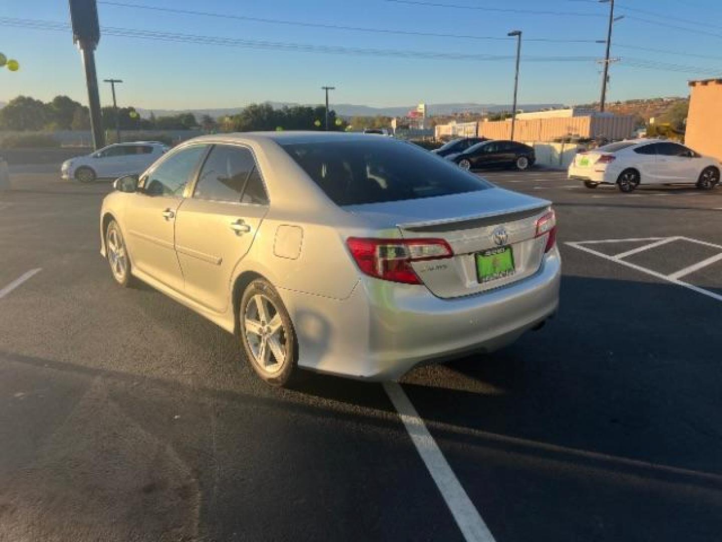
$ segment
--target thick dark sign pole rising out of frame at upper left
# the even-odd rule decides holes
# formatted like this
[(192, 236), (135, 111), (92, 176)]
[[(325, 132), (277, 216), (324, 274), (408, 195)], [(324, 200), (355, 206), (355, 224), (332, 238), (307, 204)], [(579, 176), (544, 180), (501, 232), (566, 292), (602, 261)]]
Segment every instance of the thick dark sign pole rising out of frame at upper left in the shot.
[(73, 25), (73, 43), (76, 43), (83, 56), (85, 83), (88, 89), (88, 108), (90, 108), (90, 129), (95, 150), (105, 147), (103, 118), (100, 115), (100, 93), (97, 89), (95, 73), (95, 48), (100, 41), (100, 25), (97, 22), (95, 0), (69, 0), (70, 21)]

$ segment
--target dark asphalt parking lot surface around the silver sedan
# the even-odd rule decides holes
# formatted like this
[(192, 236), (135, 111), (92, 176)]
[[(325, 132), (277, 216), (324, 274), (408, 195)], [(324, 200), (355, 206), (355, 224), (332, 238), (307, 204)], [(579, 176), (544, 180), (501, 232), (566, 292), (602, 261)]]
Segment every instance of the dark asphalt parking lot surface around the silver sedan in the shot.
[(560, 313), (399, 395), (266, 387), (231, 335), (116, 286), (107, 183), (17, 171), (0, 193), (1, 541), (720, 539), (722, 189), (484, 173), (554, 202)]

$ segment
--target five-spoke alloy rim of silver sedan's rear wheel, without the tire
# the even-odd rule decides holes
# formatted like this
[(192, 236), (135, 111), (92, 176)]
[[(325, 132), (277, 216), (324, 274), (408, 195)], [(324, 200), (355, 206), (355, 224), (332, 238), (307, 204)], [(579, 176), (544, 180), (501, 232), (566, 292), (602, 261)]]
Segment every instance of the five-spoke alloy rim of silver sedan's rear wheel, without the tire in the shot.
[(245, 306), (243, 332), (253, 362), (266, 374), (276, 374), (287, 363), (286, 328), (281, 314), (270, 298), (256, 293)]

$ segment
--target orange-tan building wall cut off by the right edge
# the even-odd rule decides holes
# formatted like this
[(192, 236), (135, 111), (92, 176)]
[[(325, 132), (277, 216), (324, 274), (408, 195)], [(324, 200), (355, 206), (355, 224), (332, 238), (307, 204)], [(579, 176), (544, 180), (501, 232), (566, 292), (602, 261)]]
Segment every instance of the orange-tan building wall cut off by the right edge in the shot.
[(690, 112), (684, 142), (722, 160), (722, 79), (690, 81)]

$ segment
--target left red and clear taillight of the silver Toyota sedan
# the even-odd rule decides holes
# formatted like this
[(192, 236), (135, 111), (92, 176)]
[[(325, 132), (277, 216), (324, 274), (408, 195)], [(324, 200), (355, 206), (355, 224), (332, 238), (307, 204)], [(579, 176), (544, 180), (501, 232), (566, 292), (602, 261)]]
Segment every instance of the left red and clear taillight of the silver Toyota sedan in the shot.
[(349, 251), (359, 269), (370, 277), (394, 283), (421, 284), (411, 262), (453, 256), (443, 239), (370, 239), (349, 237)]

